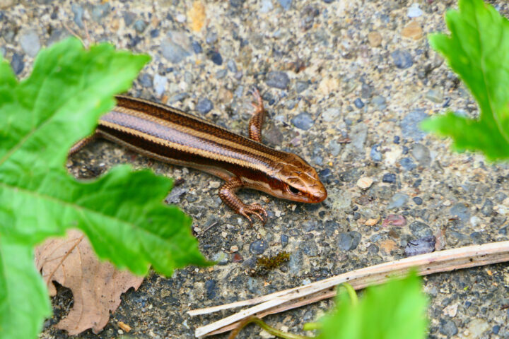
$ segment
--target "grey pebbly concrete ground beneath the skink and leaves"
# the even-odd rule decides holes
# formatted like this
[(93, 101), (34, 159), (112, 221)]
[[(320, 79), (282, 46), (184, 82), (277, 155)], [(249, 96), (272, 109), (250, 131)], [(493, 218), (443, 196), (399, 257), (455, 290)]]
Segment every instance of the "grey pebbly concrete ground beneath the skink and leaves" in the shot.
[[(493, 4), (509, 16), (505, 1)], [(269, 111), (264, 142), (307, 159), (329, 191), (315, 206), (242, 192), (245, 202), (260, 201), (269, 210), (267, 225), (250, 227), (221, 203), (215, 177), (106, 141), (88, 146), (69, 160), (76, 177), (129, 162), (182, 179), (168, 200), (192, 215), (194, 230), (204, 232), (201, 251), (220, 261), (172, 278), (152, 273), (137, 292), (124, 295), (98, 336), (117, 338), (123, 321), (135, 338), (191, 338), (194, 328), (220, 315), (191, 319), (188, 309), (392, 261), (416, 247), (507, 240), (508, 165), (451, 153), (449, 141), (416, 127), (445, 107), (478, 114), (426, 39), (445, 30), (451, 6), (454, 1), (207, 1), (204, 27), (195, 32), (191, 1), (0, 0), (0, 53), (21, 78), (40, 48), (69, 35), (66, 23), (81, 35), (86, 24), (95, 42), (151, 55), (129, 94), (238, 133), (247, 131), (247, 90), (257, 85)], [(345, 137), (351, 143), (342, 144)], [(282, 249), (291, 254), (288, 263), (266, 275), (248, 274), (257, 256)], [(507, 264), (437, 274), (423, 284), (431, 299), (429, 338), (509, 338)], [(41, 338), (67, 338), (52, 325), (71, 305), (71, 292), (61, 288)], [(267, 321), (302, 333), (303, 322), (331, 306), (319, 302)], [(267, 338), (252, 326), (239, 338), (260, 336)], [(90, 331), (80, 337), (97, 338)]]

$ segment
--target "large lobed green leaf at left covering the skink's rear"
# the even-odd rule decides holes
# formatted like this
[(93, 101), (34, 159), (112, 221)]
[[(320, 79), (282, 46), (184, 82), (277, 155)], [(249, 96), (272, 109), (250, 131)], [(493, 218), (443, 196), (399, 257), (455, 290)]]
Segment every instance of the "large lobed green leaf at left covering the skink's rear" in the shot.
[[(71, 145), (93, 132), (148, 59), (110, 44), (85, 51), (69, 39), (42, 50), (21, 82), (0, 61), (0, 319), (11, 319), (0, 322), (0, 338), (35, 338), (49, 314), (33, 263), (16, 266), (13, 253), (31, 261), (33, 246), (69, 228), (83, 230), (100, 258), (136, 274), (149, 265), (171, 275), (209, 264), (190, 218), (163, 204), (170, 179), (124, 165), (78, 182), (64, 167)], [(11, 335), (23, 323), (27, 335)]]

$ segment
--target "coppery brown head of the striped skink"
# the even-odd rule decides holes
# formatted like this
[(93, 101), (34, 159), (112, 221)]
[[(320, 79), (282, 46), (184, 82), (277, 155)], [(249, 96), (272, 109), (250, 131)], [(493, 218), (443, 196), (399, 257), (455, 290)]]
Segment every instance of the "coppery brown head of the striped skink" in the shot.
[(286, 153), (274, 168), (274, 177), (279, 179), (279, 184), (272, 194), (278, 198), (301, 203), (320, 203), (327, 198), (327, 190), (316, 170), (298, 155)]

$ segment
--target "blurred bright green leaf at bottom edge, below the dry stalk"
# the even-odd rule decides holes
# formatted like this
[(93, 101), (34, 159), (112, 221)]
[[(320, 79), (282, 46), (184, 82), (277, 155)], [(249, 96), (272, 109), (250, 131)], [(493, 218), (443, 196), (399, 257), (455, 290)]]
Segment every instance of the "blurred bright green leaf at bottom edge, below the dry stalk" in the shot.
[(357, 306), (339, 291), (336, 309), (324, 316), (319, 339), (426, 338), (428, 301), (415, 273), (365, 290)]

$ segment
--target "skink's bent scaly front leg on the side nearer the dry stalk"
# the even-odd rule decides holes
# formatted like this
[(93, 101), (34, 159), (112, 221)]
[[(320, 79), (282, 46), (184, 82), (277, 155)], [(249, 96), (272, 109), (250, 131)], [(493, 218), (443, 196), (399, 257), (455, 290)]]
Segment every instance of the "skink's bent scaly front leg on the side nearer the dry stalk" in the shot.
[(269, 218), (265, 208), (260, 206), (259, 203), (246, 205), (245, 203), (242, 203), (235, 194), (235, 191), (243, 186), (244, 184), (239, 177), (232, 177), (219, 189), (219, 196), (221, 197), (221, 200), (226, 203), (226, 205), (230, 206), (232, 210), (235, 210), (236, 213), (243, 215), (247, 218), (247, 220), (250, 220), (251, 224), (252, 219), (250, 218), (250, 215), (255, 215), (259, 220), (262, 220), (262, 222), (265, 223), (267, 221), (266, 219)]

